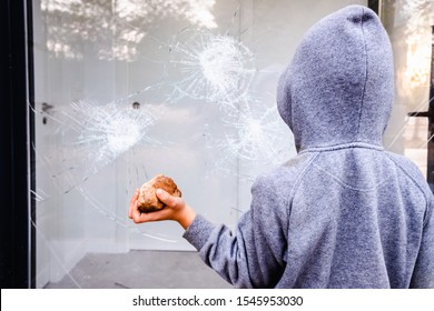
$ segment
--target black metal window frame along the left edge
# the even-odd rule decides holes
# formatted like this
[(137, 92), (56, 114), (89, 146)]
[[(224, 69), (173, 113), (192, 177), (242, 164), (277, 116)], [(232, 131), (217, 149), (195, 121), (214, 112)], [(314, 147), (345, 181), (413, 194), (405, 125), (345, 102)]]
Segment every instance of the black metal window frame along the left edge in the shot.
[(31, 0), (0, 1), (0, 285), (34, 288)]

